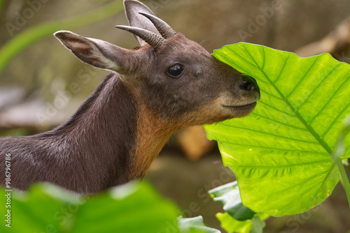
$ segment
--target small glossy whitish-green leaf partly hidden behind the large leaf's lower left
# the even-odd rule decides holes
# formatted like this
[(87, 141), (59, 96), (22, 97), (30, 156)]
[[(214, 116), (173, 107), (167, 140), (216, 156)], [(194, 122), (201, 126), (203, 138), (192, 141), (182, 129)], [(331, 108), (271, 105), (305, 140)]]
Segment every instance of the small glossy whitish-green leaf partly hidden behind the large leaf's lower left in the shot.
[(214, 201), (223, 204), (223, 209), (232, 218), (239, 221), (253, 218), (255, 212), (241, 203), (237, 181), (209, 190), (208, 193)]

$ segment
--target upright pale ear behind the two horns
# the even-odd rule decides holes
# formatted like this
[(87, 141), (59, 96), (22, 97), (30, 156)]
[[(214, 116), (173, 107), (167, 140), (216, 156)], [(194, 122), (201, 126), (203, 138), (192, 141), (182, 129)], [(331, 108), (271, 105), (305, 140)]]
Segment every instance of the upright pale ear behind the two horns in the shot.
[[(127, 21), (129, 21), (129, 25), (131, 27), (146, 29), (147, 31), (151, 31), (160, 36), (160, 33), (155, 28), (153, 23), (150, 20), (147, 20), (147, 18), (144, 17), (144, 15), (139, 14), (139, 13), (147, 13), (149, 15), (155, 15), (150, 8), (144, 5), (144, 3), (141, 3), (139, 1), (134, 1), (134, 0), (124, 0), (124, 7), (125, 7), (125, 15), (127, 15)], [(137, 38), (137, 41), (139, 41), (139, 44), (141, 46), (146, 45), (146, 42), (141, 38), (139, 38), (139, 36), (135, 36), (135, 38)]]

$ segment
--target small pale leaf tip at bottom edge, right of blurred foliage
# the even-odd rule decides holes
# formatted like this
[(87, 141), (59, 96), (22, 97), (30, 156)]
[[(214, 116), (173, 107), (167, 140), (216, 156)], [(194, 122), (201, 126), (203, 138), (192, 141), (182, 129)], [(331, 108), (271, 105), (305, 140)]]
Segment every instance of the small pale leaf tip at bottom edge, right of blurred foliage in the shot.
[(179, 229), (181, 233), (221, 233), (214, 228), (206, 227), (203, 223), (203, 217), (195, 218), (179, 217)]

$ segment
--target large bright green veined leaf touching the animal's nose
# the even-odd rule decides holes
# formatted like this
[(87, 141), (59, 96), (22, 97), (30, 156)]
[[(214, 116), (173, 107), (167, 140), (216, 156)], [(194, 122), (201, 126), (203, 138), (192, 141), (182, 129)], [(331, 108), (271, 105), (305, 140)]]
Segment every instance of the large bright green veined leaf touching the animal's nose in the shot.
[[(323, 202), (339, 181), (330, 154), (350, 113), (350, 66), (329, 54), (302, 59), (247, 43), (214, 57), (255, 77), (261, 91), (248, 117), (206, 126), (237, 176), (243, 204), (284, 216)], [(344, 145), (342, 158), (349, 158), (349, 134)]]

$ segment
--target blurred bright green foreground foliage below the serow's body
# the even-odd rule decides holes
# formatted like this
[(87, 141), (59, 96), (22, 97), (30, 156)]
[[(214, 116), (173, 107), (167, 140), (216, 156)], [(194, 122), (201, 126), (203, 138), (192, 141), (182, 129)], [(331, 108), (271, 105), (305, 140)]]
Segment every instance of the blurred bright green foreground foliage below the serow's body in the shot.
[[(0, 208), (4, 216), (5, 204)], [(144, 182), (92, 197), (39, 184), (27, 193), (14, 190), (10, 211), (11, 227), (1, 224), (0, 232), (179, 232), (179, 209)]]

